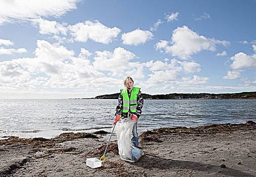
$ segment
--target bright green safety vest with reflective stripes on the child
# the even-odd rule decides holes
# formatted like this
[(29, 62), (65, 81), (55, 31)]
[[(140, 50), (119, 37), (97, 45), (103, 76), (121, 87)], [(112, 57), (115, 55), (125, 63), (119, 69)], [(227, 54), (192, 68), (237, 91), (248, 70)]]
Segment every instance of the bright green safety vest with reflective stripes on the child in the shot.
[(133, 87), (130, 98), (127, 89), (121, 90), (121, 95), (123, 96), (122, 112), (128, 112), (129, 110), (131, 110), (131, 112), (136, 112), (138, 106), (137, 95), (139, 93), (139, 90), (139, 87)]

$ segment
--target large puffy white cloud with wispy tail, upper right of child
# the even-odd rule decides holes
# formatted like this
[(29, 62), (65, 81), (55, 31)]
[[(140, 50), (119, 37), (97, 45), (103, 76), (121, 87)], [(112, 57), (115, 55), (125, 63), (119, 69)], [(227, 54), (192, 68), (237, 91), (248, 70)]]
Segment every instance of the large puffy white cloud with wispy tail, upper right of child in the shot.
[[(170, 46), (169, 46), (170, 43)], [(197, 54), (202, 50), (215, 51), (216, 45), (227, 46), (230, 42), (226, 40), (216, 40), (207, 38), (192, 31), (187, 26), (178, 27), (173, 30), (172, 40), (160, 40), (157, 43), (157, 50), (165, 50), (166, 53), (171, 53), (172, 56), (177, 56), (180, 59), (190, 59), (191, 55)]]

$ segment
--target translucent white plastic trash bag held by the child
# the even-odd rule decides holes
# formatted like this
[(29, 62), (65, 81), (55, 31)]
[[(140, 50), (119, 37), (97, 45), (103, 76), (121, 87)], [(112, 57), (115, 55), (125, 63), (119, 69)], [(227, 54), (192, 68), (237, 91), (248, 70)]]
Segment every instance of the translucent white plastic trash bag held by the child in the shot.
[[(138, 120), (138, 119), (137, 119)], [(143, 155), (143, 151), (132, 146), (132, 129), (137, 121), (124, 118), (117, 122), (115, 132), (117, 134), (119, 155), (122, 160), (136, 162)]]

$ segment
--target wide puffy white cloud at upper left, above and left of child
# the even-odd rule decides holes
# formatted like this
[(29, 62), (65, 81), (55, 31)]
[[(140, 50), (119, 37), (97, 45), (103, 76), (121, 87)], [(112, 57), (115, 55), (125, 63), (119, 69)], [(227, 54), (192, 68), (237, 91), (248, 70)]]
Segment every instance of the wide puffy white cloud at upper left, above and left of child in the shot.
[(100, 43), (110, 43), (121, 32), (121, 29), (106, 27), (99, 21), (85, 21), (84, 23), (69, 25), (68, 28), (75, 40), (80, 42), (91, 39)]

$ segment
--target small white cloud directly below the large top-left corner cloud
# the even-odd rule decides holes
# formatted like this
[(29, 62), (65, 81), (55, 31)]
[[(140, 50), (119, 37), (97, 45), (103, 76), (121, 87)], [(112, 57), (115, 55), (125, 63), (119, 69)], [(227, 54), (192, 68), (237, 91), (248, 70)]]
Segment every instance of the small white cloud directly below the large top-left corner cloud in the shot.
[(31, 20), (32, 23), (35, 24), (39, 24), (39, 29), (40, 29), (40, 33), (41, 34), (63, 34), (63, 35), (67, 35), (67, 24), (63, 23), (60, 24), (56, 21), (49, 21), (49, 20), (45, 20), (45, 19), (33, 19)]

